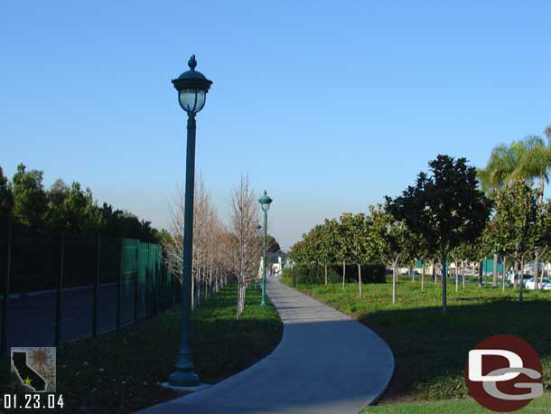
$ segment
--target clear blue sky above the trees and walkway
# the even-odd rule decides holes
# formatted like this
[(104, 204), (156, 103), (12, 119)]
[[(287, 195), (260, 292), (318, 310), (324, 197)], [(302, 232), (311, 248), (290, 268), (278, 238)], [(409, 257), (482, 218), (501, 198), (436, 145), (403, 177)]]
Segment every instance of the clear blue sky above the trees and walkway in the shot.
[(214, 81), (197, 170), (222, 217), (241, 173), (266, 188), (285, 248), (439, 153), (481, 166), (551, 123), (548, 0), (18, 0), (0, 3), (0, 165), (166, 226), (191, 53)]

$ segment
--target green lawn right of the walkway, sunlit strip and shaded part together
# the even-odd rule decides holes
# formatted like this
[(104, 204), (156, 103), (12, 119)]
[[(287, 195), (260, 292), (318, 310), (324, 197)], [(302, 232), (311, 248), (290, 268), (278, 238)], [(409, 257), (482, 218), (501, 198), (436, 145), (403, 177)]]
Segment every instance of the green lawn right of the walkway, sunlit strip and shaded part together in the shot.
[[(290, 284), (289, 279), (284, 281)], [(353, 283), (344, 291), (340, 284), (295, 288), (354, 316), (387, 341), (396, 370), (382, 396), (383, 404), (466, 398), (467, 354), (492, 334), (515, 334), (531, 343), (544, 364), (546, 390), (551, 389), (551, 291), (525, 291), (525, 301), (518, 303), (518, 291), (513, 288), (503, 293), (500, 288), (471, 283), (456, 293), (449, 284), (448, 313), (443, 315), (442, 287), (431, 280), (425, 280), (421, 291), (418, 281), (401, 279), (396, 305), (390, 283), (364, 285), (361, 298)]]

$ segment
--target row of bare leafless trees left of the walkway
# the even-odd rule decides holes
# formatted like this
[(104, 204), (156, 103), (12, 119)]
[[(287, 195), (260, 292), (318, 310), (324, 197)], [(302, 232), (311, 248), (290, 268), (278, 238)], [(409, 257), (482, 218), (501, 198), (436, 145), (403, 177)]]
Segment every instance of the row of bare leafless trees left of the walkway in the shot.
[[(171, 225), (163, 238), (168, 266), (182, 282), (183, 192), (178, 191), (171, 209)], [(257, 195), (247, 175), (241, 176), (231, 195), (229, 225), (219, 215), (201, 178), (195, 185), (193, 204), (193, 265), (191, 306), (217, 292), (230, 277), (238, 281), (239, 318), (246, 302), (247, 287), (258, 277), (262, 253), (260, 216)], [(269, 251), (279, 250), (279, 244), (268, 237)]]

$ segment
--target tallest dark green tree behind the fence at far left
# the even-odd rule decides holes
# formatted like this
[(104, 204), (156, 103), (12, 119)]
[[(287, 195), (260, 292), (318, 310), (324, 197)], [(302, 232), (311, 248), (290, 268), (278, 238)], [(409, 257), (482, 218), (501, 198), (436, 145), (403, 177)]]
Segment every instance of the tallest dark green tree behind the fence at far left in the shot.
[(42, 229), (47, 203), (42, 185), (42, 171), (26, 171), (25, 165), (17, 165), (12, 183), (14, 220), (23, 226)]

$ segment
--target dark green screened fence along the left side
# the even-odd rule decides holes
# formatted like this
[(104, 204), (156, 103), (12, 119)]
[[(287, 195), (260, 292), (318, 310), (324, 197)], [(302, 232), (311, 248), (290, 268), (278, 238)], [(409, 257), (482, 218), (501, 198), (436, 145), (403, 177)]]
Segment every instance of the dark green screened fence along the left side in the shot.
[[(0, 222), (4, 351), (7, 343), (49, 346), (135, 323), (176, 303), (179, 287), (160, 245), (17, 225), (10, 231)], [(25, 315), (25, 309), (39, 316)]]

